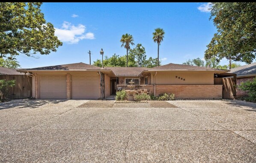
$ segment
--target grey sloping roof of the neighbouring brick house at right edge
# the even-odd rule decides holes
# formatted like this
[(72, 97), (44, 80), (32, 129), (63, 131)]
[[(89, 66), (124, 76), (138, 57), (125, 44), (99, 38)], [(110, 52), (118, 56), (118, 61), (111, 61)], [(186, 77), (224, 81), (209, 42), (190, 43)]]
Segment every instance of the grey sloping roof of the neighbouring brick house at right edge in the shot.
[(256, 75), (256, 62), (250, 65), (244, 65), (231, 69), (230, 72), (236, 74), (237, 77)]

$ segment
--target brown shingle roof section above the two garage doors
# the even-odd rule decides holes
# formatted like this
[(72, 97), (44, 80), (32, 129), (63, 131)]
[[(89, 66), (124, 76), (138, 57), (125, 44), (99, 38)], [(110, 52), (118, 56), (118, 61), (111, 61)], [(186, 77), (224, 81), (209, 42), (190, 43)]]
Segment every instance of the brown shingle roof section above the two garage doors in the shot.
[(37, 68), (27, 69), (27, 70), (100, 70), (100, 69), (101, 67), (80, 62), (80, 63), (65, 64), (65, 65), (37, 67)]

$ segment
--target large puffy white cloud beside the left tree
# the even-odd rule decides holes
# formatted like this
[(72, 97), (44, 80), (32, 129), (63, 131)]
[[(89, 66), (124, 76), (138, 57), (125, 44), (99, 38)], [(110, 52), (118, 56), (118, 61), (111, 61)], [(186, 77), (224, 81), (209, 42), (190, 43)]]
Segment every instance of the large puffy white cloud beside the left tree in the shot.
[(94, 34), (91, 32), (85, 33), (86, 27), (82, 24), (77, 26), (72, 25), (69, 22), (64, 21), (62, 27), (55, 28), (55, 35), (62, 41), (66, 43), (78, 43), (83, 39), (95, 39)]

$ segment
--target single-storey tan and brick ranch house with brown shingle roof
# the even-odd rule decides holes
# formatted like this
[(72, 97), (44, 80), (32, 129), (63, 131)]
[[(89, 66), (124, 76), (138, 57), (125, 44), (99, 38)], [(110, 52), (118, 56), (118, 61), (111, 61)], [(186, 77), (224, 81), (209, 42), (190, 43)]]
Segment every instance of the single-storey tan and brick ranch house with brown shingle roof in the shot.
[(127, 89), (151, 94), (174, 93), (176, 99), (222, 99), (222, 85), (214, 85), (214, 75), (228, 70), (169, 63), (152, 69), (104, 67), (73, 63), (18, 70), (33, 76), (33, 97), (37, 99), (99, 99)]

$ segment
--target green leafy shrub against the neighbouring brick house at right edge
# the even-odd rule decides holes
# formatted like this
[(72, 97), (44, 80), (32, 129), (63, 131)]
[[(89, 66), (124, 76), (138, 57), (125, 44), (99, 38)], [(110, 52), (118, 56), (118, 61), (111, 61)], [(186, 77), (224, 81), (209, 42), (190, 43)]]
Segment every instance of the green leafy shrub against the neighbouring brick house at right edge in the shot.
[(248, 97), (246, 97), (245, 100), (256, 102), (256, 78), (254, 78), (253, 81), (241, 83), (238, 87), (243, 91), (248, 91)]

